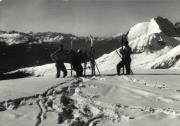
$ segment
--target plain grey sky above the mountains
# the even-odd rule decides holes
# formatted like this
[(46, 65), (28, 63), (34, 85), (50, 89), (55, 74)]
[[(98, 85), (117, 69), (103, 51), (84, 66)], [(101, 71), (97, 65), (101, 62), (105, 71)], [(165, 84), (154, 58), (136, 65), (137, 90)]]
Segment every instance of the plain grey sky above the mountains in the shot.
[(113, 36), (162, 16), (180, 22), (179, 0), (0, 0), (0, 30)]

